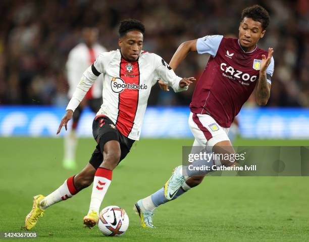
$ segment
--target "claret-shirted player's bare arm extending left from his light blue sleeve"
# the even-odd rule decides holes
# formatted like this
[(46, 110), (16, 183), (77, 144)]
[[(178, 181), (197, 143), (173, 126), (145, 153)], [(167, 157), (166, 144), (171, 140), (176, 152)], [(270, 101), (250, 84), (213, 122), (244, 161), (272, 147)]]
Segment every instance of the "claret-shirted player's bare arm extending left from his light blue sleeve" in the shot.
[(185, 59), (189, 52), (196, 52), (196, 39), (183, 42), (179, 45), (169, 64), (170, 67), (173, 70), (176, 70), (176, 68)]

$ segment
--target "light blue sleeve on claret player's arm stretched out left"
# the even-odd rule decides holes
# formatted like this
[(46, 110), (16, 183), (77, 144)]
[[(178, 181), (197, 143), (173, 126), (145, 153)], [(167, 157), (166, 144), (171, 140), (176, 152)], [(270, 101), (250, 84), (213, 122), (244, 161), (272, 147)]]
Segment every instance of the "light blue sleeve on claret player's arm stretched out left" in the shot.
[(208, 53), (215, 57), (223, 35), (206, 35), (198, 38), (196, 41), (196, 50), (198, 54)]

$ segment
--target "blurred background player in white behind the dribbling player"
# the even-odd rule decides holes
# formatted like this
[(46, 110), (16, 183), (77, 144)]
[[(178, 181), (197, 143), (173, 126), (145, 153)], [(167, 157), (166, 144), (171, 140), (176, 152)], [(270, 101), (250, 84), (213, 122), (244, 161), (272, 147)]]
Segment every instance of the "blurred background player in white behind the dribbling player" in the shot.
[[(68, 96), (71, 99), (83, 72), (91, 65), (101, 52), (106, 52), (104, 46), (97, 43), (98, 30), (94, 27), (85, 27), (82, 30), (84, 42), (77, 44), (69, 53), (67, 68), (67, 79), (69, 83)], [(96, 113), (102, 104), (102, 81), (99, 77), (86, 93), (85, 98), (73, 114), (72, 129), (64, 139), (63, 166), (66, 169), (76, 169), (75, 153), (77, 147), (76, 129), (78, 121), (86, 105), (92, 112)]]

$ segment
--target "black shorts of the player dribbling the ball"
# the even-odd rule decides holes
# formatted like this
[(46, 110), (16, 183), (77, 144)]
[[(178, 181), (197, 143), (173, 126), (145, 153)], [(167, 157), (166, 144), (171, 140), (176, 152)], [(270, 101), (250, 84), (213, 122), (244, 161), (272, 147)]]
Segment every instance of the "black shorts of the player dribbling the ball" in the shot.
[[(120, 144), (122, 161), (130, 152), (135, 140), (124, 136), (116, 128), (115, 124), (107, 116), (97, 116), (92, 123), (92, 134), (97, 143), (89, 163), (97, 169), (103, 162), (104, 145), (111, 140), (117, 140)], [(119, 161), (119, 162), (120, 162)]]

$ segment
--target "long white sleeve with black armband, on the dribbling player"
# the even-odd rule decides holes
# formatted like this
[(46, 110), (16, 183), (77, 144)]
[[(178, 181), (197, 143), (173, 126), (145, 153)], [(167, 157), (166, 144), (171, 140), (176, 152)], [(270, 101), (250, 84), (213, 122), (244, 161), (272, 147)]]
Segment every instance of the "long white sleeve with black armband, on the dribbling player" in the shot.
[(90, 89), (94, 81), (103, 72), (104, 72), (103, 57), (102, 55), (99, 55), (94, 61), (94, 63), (84, 71), (66, 110), (71, 109), (73, 110), (73, 112), (75, 111), (75, 109), (83, 100), (84, 96), (86, 95), (87, 91)]

